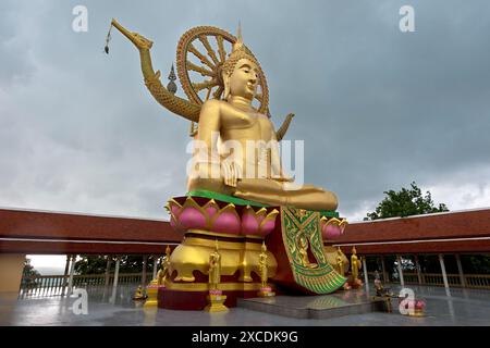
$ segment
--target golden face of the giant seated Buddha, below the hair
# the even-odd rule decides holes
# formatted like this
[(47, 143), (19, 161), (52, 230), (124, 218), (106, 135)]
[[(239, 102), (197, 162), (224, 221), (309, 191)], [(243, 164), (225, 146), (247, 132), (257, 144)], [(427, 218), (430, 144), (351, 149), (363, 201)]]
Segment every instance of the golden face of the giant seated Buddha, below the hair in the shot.
[(225, 78), (230, 88), (230, 95), (253, 100), (257, 92), (258, 67), (250, 60), (241, 59), (233, 70), (233, 73)]

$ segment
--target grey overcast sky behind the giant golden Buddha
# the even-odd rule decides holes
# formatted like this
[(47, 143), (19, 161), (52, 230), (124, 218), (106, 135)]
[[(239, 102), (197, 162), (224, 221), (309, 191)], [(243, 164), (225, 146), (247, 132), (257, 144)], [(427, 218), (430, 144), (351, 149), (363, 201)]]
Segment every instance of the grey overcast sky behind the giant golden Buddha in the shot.
[(188, 122), (152, 99), (118, 32), (103, 53), (111, 17), (154, 40), (163, 83), (185, 30), (241, 21), (273, 122), (296, 114), (305, 182), (351, 221), (412, 181), (451, 210), (490, 206), (489, 1), (2, 0), (1, 207), (166, 219), (185, 194)]

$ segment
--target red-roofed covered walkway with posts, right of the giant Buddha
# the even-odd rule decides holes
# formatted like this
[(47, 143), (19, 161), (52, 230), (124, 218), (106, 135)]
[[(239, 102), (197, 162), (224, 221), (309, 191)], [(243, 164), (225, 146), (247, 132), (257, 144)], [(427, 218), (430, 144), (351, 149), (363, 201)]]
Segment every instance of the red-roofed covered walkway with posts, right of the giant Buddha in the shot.
[(490, 264), (475, 270), (473, 259), (490, 254), (490, 209), (364, 221), (347, 225), (328, 243), (363, 256), (365, 282), (378, 271), (383, 282), (405, 285), (490, 289)]

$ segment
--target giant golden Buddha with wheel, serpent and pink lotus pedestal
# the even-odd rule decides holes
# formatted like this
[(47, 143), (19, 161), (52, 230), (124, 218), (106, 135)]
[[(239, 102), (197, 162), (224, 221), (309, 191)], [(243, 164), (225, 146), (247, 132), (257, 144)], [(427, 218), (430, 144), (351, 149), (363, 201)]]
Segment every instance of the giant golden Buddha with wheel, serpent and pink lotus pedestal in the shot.
[[(182, 35), (176, 50), (176, 71), (186, 100), (175, 95), (174, 84), (163, 87), (160, 71), (154, 71), (150, 54), (154, 42), (125, 29), (115, 20), (112, 26), (138, 49), (144, 82), (151, 96), (167, 110), (192, 123), (193, 159), (187, 165), (186, 197), (172, 198), (168, 206), (171, 224), (185, 237), (171, 256), (168, 272), (175, 272), (175, 277), (167, 278), (164, 291), (177, 294), (209, 288), (210, 293), (219, 293), (221, 274), (229, 279), (237, 271), (237, 279), (223, 282), (220, 287), (255, 291), (261, 284), (254, 282), (253, 271), (260, 273), (261, 278), (264, 272), (270, 278), (278, 273), (273, 252), (267, 251), (268, 259), (260, 260), (259, 240), (275, 231), (272, 228), (279, 211), (262, 206), (280, 206), (279, 210), (284, 213), (299, 209), (304, 216), (311, 213), (314, 217), (308, 223), (319, 227), (321, 213), (336, 209), (335, 195), (313, 185), (295, 184), (284, 174), (278, 141), (287, 130), (292, 114), (274, 129), (269, 120), (265, 74), (243, 44), (240, 30), (234, 37), (220, 28), (198, 26)], [(231, 46), (226, 48), (223, 44)], [(255, 107), (256, 101), (258, 107)], [(271, 229), (267, 231), (266, 226)], [(319, 238), (315, 240), (321, 243), (319, 232), (316, 235)], [(221, 253), (218, 245), (213, 248), (209, 236), (220, 238)], [(297, 248), (297, 254), (301, 253), (298, 257), (295, 253), (295, 261), (309, 268), (311, 274), (320, 274), (314, 269), (326, 271), (321, 273), (324, 279), (344, 281), (330, 272), (330, 265), (322, 264), (323, 254), (308, 241), (313, 237), (314, 233), (299, 240), (293, 237), (291, 248)], [(311, 247), (309, 251), (308, 247)], [(317, 258), (318, 264), (309, 262), (308, 252)], [(267, 269), (260, 270), (259, 262), (267, 264)], [(208, 274), (208, 284), (195, 276), (196, 271)], [(336, 283), (321, 290), (333, 288)]]

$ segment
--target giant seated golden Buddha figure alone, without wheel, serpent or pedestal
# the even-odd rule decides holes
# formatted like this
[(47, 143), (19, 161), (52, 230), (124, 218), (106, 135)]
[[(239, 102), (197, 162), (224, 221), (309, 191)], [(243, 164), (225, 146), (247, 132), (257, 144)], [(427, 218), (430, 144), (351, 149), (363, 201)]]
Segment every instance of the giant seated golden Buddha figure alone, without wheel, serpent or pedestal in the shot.
[(258, 62), (241, 35), (221, 67), (223, 99), (200, 110), (188, 191), (209, 190), (270, 206), (333, 211), (333, 192), (297, 185), (284, 175), (274, 127), (253, 107)]

